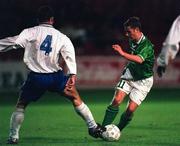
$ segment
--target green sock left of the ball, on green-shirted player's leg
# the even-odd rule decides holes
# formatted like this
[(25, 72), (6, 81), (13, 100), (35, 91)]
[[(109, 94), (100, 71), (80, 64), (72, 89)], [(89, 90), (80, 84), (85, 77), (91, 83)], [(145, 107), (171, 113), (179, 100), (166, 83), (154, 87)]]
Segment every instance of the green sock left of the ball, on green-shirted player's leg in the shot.
[(119, 112), (119, 107), (113, 107), (111, 105), (108, 106), (106, 109), (104, 120), (102, 122), (102, 126), (106, 126), (108, 124), (111, 124), (114, 121), (118, 112)]

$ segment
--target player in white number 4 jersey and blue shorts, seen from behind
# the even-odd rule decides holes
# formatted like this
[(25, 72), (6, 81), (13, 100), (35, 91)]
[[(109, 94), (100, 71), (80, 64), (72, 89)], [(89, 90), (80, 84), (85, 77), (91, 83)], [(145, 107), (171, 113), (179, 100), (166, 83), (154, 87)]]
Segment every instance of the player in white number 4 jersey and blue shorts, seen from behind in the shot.
[[(11, 116), (7, 143), (18, 143), (25, 108), (31, 101), (38, 100), (45, 91), (57, 92), (68, 98), (75, 111), (85, 120), (89, 134), (95, 138), (100, 137), (105, 129), (95, 122), (75, 88), (76, 60), (70, 39), (53, 27), (53, 10), (50, 7), (39, 9), (38, 20), (38, 26), (24, 29), (18, 36), (0, 40), (0, 51), (25, 48), (24, 62), (30, 70), (21, 88), (16, 110)], [(64, 75), (60, 66), (61, 57), (68, 68), (68, 75)]]

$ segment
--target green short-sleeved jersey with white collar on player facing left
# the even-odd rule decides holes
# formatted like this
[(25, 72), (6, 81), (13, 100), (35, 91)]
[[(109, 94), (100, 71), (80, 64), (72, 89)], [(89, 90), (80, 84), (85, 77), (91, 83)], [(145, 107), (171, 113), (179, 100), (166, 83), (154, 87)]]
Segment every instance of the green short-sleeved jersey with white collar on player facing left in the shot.
[(153, 76), (154, 45), (145, 36), (136, 44), (129, 41), (129, 45), (131, 54), (138, 55), (144, 60), (142, 64), (131, 61), (126, 66), (133, 80), (137, 81)]

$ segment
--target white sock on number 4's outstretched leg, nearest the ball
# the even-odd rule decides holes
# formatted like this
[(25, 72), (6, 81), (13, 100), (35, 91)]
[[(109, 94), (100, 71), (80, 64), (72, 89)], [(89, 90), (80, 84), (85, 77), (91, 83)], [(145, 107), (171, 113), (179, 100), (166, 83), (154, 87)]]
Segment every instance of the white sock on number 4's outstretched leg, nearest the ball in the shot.
[(88, 128), (97, 126), (94, 117), (86, 104), (82, 102), (81, 105), (75, 107), (75, 110), (86, 121)]

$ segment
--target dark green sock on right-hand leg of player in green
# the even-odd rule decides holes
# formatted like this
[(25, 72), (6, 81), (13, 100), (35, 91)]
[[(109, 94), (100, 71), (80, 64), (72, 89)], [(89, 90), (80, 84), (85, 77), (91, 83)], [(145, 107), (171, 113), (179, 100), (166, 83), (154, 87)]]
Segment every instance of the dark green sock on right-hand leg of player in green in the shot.
[(121, 119), (120, 119), (120, 122), (118, 124), (118, 127), (119, 129), (122, 131), (129, 123), (130, 121), (132, 120), (133, 118), (133, 114), (131, 115), (127, 115), (126, 112), (124, 112), (122, 115), (121, 115)]

